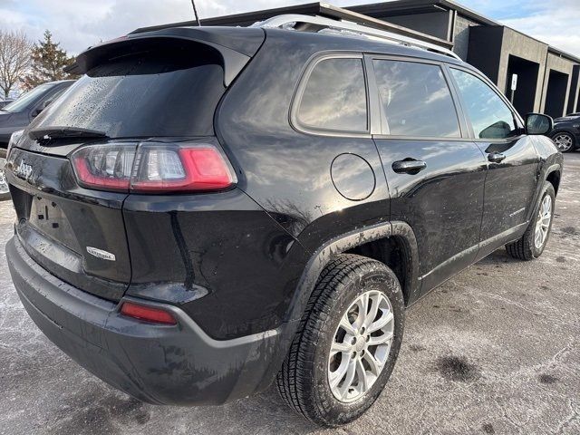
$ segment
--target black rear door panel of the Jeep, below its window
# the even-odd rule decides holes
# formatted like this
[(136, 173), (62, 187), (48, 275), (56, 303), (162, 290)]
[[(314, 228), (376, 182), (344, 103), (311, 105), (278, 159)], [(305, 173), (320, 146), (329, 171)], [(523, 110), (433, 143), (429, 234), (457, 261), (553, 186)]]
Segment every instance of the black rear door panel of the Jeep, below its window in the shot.
[[(428, 291), (475, 258), (486, 160), (469, 141), (375, 141), (389, 181), (391, 220), (407, 222), (413, 229), (419, 245), (422, 288)], [(427, 167), (417, 174), (398, 174), (391, 164), (404, 159), (422, 160)], [(473, 247), (476, 249), (469, 250)]]

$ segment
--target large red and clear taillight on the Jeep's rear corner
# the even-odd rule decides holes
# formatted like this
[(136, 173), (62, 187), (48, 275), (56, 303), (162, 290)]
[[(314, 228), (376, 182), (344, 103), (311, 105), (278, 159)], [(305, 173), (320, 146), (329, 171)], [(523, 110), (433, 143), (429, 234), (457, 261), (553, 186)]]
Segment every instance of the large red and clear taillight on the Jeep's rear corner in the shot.
[(226, 157), (212, 144), (101, 144), (71, 156), (79, 184), (136, 193), (227, 189), (235, 182)]

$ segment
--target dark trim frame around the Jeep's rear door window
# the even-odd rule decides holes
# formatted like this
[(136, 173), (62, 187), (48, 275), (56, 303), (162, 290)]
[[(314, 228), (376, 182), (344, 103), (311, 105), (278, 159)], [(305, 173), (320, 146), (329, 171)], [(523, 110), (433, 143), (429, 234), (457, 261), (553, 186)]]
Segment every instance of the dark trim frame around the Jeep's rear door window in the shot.
[[(377, 119), (378, 128), (373, 130), (372, 137), (375, 139), (392, 139), (392, 140), (429, 140), (429, 141), (465, 141), (469, 140), (469, 124), (467, 123), (467, 117), (464, 111), (462, 110), (462, 106), (459, 104), (459, 95), (455, 89), (454, 83), (450, 82), (449, 73), (446, 71), (446, 66), (448, 63), (434, 61), (431, 59), (420, 59), (415, 57), (408, 57), (408, 56), (400, 56), (400, 55), (390, 55), (390, 54), (380, 54), (380, 53), (365, 53), (365, 63), (366, 63), (366, 70), (368, 72), (367, 82), (369, 83), (369, 92), (372, 95), (376, 95), (377, 104), (373, 105), (374, 111), (376, 111), (376, 115), (373, 113), (373, 118)], [(455, 108), (455, 114), (457, 117), (458, 125), (459, 125), (459, 136), (456, 137), (448, 137), (448, 136), (411, 136), (411, 135), (394, 135), (385, 133), (382, 130), (382, 121), (383, 117), (386, 115), (384, 114), (384, 110), (382, 108), (382, 102), (379, 97), (379, 85), (376, 82), (376, 76), (374, 73), (374, 69), (372, 68), (372, 61), (380, 60), (380, 61), (394, 61), (394, 62), (407, 62), (407, 63), (425, 63), (429, 65), (435, 65), (440, 67), (440, 71), (443, 74), (443, 79), (445, 80), (447, 87), (449, 89), (449, 94), (451, 96), (451, 100), (453, 102), (453, 107)]]

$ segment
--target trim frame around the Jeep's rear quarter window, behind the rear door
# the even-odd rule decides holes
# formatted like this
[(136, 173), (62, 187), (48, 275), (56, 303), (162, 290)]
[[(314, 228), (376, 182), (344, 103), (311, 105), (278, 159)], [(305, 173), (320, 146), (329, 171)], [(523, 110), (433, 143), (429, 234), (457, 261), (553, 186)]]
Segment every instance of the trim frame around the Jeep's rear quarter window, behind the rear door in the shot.
[[(361, 60), (362, 73), (364, 77), (364, 92), (366, 97), (366, 131), (348, 131), (348, 130), (332, 130), (304, 125), (298, 119), (298, 111), (304, 96), (304, 90), (310, 80), (314, 68), (318, 63), (328, 59), (359, 59)], [(300, 75), (300, 79), (295, 87), (295, 92), (290, 103), (289, 121), (290, 125), (295, 131), (300, 131), (307, 134), (314, 134), (316, 136), (332, 136), (341, 138), (371, 138), (372, 131), (372, 116), (371, 116), (371, 92), (369, 92), (369, 74), (367, 72), (364, 58), (360, 52), (320, 52), (314, 54), (304, 67), (304, 71)]]

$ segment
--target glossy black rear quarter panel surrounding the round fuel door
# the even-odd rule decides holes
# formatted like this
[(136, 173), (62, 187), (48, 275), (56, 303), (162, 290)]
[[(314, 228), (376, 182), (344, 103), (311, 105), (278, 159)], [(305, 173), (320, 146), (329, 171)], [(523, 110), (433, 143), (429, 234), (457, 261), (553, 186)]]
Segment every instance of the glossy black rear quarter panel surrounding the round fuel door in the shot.
[[(312, 34), (268, 32), (263, 48), (227, 92), (217, 115), (218, 138), (238, 168), (238, 187), (295, 237), (308, 252), (356, 227), (387, 221), (389, 194), (372, 139), (328, 137), (296, 131), (289, 112), (296, 85), (316, 53), (345, 50)], [(304, 39), (304, 41), (303, 41)], [(344, 43), (346, 41), (346, 43)], [(353, 52), (356, 47), (353, 46)], [(342, 153), (366, 160), (376, 186), (353, 201), (334, 188), (331, 164)]]

